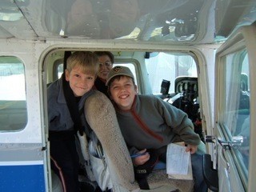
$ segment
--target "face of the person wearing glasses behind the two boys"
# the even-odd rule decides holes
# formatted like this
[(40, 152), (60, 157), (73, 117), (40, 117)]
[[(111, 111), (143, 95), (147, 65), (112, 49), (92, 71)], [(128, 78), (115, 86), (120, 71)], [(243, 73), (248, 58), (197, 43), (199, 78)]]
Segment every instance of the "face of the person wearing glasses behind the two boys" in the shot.
[(100, 63), (98, 77), (106, 80), (107, 75), (112, 69), (113, 63), (111, 62), (110, 57), (106, 54), (98, 57), (98, 62)]

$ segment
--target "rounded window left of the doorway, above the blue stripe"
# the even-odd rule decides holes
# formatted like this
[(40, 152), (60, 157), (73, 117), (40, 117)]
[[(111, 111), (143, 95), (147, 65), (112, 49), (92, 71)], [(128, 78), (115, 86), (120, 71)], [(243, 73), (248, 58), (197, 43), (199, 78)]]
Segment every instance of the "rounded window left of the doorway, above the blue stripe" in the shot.
[(21, 130), (27, 123), (24, 65), (16, 57), (0, 57), (0, 131)]

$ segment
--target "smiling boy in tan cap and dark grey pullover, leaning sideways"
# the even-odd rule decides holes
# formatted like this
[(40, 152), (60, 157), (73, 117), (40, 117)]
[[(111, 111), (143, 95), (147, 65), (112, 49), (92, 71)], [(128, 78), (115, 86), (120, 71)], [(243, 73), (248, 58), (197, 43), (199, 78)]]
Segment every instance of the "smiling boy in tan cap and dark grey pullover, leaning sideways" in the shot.
[(161, 98), (137, 94), (134, 75), (128, 67), (115, 66), (110, 70), (106, 86), (130, 154), (142, 154), (133, 158), (134, 166), (149, 161), (147, 150), (181, 140), (192, 154), (194, 191), (207, 191), (202, 176), (202, 155), (196, 154), (201, 141), (187, 114)]

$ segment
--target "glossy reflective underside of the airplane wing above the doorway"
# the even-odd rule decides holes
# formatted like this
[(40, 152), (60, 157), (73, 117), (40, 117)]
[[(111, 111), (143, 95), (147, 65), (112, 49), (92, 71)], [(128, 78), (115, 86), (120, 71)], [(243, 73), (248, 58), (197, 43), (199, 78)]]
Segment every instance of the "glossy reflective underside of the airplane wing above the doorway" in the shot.
[(255, 19), (255, 0), (1, 0), (0, 38), (200, 44)]

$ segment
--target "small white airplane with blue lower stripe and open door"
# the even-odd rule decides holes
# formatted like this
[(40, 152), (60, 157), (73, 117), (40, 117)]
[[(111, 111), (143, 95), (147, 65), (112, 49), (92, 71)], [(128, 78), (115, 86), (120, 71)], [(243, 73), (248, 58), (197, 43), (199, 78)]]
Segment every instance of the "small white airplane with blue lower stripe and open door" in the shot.
[[(50, 170), (47, 85), (66, 53), (90, 50), (128, 66), (138, 94), (188, 114), (209, 191), (254, 192), (255, 21), (255, 0), (2, 0), (0, 191), (63, 191)], [(152, 180), (150, 191), (176, 190)]]

